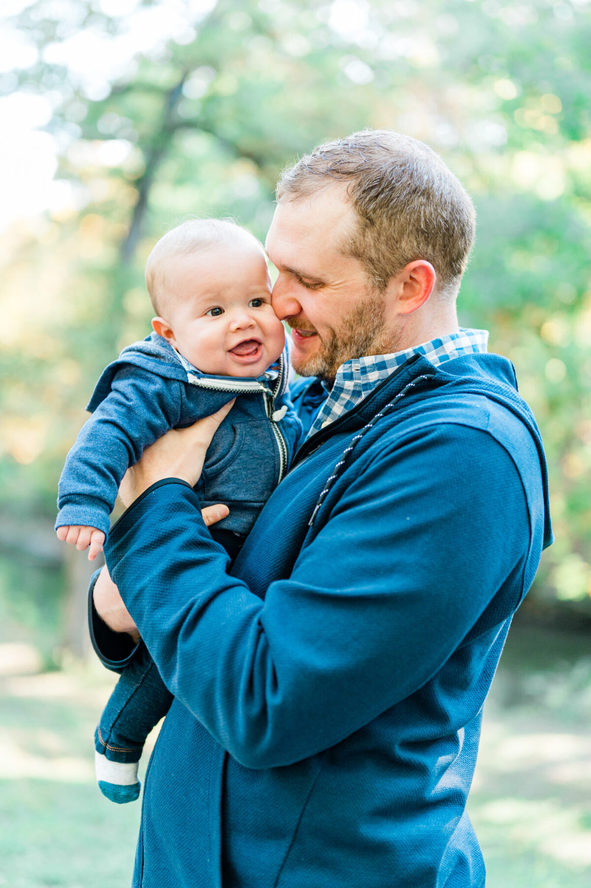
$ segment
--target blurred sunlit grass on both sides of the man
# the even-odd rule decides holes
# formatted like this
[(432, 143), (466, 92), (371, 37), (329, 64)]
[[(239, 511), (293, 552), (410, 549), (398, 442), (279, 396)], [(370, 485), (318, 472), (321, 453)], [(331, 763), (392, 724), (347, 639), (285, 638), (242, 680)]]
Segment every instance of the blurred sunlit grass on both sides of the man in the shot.
[[(487, 888), (591, 886), (587, 651), (583, 637), (509, 634), (469, 800)], [(0, 678), (0, 886), (129, 888), (139, 804), (106, 801), (92, 765), (112, 680), (75, 664)]]

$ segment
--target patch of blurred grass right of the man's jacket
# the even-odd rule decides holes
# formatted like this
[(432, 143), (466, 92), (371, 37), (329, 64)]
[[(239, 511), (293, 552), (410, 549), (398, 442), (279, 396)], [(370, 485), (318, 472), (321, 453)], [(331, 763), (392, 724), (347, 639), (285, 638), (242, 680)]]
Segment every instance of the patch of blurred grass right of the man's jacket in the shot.
[(469, 797), (487, 888), (591, 886), (588, 651), (582, 635), (509, 633)]

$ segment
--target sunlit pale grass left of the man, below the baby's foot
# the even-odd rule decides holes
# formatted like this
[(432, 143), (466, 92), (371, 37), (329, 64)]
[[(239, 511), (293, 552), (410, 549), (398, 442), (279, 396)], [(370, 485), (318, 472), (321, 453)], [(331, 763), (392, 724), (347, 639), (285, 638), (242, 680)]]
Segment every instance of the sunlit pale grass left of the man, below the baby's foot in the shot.
[(108, 802), (92, 773), (110, 677), (71, 669), (3, 685), (0, 885), (129, 888), (139, 805)]

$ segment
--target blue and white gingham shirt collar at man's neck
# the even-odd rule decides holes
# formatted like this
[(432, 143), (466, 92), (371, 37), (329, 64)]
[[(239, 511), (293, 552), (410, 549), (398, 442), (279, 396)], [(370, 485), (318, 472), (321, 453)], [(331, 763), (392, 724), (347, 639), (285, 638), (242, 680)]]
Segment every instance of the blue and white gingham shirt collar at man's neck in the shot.
[(324, 428), (329, 423), (346, 413), (366, 398), (375, 385), (390, 376), (400, 364), (404, 364), (414, 354), (422, 354), (435, 367), (461, 354), (485, 352), (488, 345), (488, 330), (461, 329), (459, 333), (450, 333), (439, 339), (432, 339), (404, 352), (391, 354), (372, 354), (364, 358), (353, 358), (346, 361), (336, 372), (335, 385), (319, 414), (311, 424), (308, 437)]

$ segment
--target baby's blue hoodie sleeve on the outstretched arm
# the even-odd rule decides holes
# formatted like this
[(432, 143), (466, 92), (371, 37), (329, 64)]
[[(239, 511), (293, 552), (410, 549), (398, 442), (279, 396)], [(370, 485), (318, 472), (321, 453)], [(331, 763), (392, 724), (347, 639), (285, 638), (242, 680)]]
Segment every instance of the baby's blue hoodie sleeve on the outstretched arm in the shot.
[(66, 458), (58, 487), (56, 529), (64, 525), (109, 531), (123, 475), (144, 449), (177, 425), (181, 383), (124, 365), (111, 392), (88, 419)]

